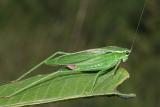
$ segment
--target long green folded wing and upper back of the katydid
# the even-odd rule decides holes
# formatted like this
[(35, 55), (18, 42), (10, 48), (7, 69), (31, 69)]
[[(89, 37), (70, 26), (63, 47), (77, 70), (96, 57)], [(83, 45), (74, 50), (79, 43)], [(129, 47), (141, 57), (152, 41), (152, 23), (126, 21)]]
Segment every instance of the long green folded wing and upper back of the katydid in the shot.
[(111, 53), (111, 52), (124, 52), (129, 51), (126, 48), (116, 47), (116, 46), (107, 46), (103, 48), (89, 49), (85, 51), (79, 51), (75, 53), (70, 53), (66, 55), (61, 55), (50, 60), (47, 60), (45, 64), (47, 65), (68, 65), (79, 63), (94, 57), (97, 57), (102, 54)]

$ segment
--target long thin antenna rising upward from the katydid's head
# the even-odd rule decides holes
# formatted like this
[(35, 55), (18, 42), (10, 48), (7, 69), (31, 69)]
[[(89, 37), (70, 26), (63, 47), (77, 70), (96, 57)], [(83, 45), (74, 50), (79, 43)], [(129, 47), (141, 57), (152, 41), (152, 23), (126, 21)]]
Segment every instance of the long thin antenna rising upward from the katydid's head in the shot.
[(143, 8), (142, 8), (142, 11), (141, 11), (139, 20), (138, 20), (138, 24), (137, 24), (137, 27), (136, 27), (136, 31), (135, 31), (134, 37), (133, 37), (133, 42), (132, 42), (132, 45), (131, 45), (131, 47), (130, 47), (130, 53), (131, 53), (132, 50), (133, 50), (133, 46), (134, 46), (135, 40), (136, 40), (136, 38), (137, 38), (136, 33), (138, 32), (139, 26), (140, 26), (141, 21), (142, 21), (142, 17), (143, 17), (144, 10), (145, 10), (145, 7), (146, 7), (146, 2), (147, 2), (147, 0), (144, 1), (144, 5), (143, 5)]

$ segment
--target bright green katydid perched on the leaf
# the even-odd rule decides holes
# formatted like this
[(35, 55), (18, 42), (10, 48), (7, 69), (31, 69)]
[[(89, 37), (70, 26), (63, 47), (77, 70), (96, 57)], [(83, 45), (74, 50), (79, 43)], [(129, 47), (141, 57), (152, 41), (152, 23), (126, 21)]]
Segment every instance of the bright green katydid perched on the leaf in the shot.
[[(66, 65), (66, 67), (69, 69), (65, 71), (59, 70), (58, 72), (61, 72), (61, 75), (72, 75), (90, 71), (97, 73), (92, 85), (93, 90), (98, 77), (108, 72), (107, 70), (112, 67), (114, 68), (114, 70), (116, 70), (121, 61), (125, 62), (128, 59), (129, 54), (130, 50), (126, 48), (109, 46), (75, 53), (64, 53), (63, 55), (55, 58), (49, 57), (43, 62), (49, 65)], [(32, 84), (27, 85), (24, 88), (21, 88), (6, 97), (12, 97), (24, 90), (27, 90), (28, 88), (34, 87), (35, 85), (38, 85), (50, 79), (54, 79), (58, 76), (59, 75), (57, 75), (57, 73), (51, 73), (50, 75), (41, 78), (40, 80), (35, 81)]]

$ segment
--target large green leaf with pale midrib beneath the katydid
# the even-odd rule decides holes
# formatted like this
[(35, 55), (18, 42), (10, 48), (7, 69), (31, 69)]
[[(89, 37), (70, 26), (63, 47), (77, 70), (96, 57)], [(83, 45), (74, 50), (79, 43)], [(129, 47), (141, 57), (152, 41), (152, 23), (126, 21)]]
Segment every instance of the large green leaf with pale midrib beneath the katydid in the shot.
[[(0, 87), (0, 96), (7, 96), (44, 76), (46, 75), (39, 75), (17, 83), (3, 85)], [(122, 94), (117, 91), (117, 86), (129, 78), (129, 74), (125, 69), (120, 68), (114, 75), (113, 71), (110, 71), (99, 77), (94, 90), (91, 92), (95, 76), (96, 73), (82, 73), (50, 79), (10, 98), (0, 98), (0, 106), (20, 107), (102, 95), (117, 95), (123, 98), (135, 96), (134, 94)]]

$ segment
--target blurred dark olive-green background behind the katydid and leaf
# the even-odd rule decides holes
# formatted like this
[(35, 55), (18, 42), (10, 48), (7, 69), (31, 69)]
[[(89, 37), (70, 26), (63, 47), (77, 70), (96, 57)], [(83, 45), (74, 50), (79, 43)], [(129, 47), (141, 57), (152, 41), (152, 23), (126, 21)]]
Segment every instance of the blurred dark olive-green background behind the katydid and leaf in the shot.
[[(130, 48), (120, 90), (137, 97), (77, 99), (33, 107), (160, 107), (160, 1), (0, 0), (0, 82), (11, 81), (52, 53), (116, 45)], [(50, 73), (42, 68), (38, 73)]]

